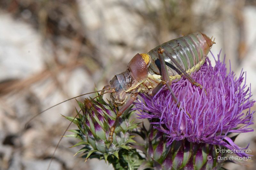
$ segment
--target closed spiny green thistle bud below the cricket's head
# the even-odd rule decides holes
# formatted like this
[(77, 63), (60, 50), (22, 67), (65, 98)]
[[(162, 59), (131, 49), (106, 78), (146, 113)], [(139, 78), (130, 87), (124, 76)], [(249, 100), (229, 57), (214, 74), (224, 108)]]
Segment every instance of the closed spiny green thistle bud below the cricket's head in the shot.
[[(124, 119), (119, 119), (116, 127), (113, 142), (108, 141), (110, 127), (115, 122), (116, 108), (112, 104), (106, 103), (101, 96), (96, 100), (85, 99), (84, 103), (77, 101), (82, 114), (76, 110), (78, 118), (73, 123), (78, 127), (72, 135), (66, 137), (76, 137), (81, 141), (72, 147), (84, 145), (77, 153), (82, 153), (82, 157), (105, 159), (112, 163), (115, 169), (137, 169), (141, 164), (141, 156), (131, 147), (130, 143), (135, 143), (131, 135), (138, 123), (129, 122), (132, 114), (131, 108), (123, 114)], [(66, 117), (66, 116), (65, 116)], [(72, 117), (66, 117), (72, 121)], [(77, 154), (76, 153), (76, 154)]]

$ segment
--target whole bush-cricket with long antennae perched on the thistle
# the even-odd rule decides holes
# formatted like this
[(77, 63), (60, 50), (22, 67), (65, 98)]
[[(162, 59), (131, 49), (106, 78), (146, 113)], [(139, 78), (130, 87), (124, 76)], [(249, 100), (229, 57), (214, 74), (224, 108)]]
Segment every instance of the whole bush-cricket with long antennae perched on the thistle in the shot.
[[(177, 104), (177, 107), (182, 109), (180, 107), (180, 102), (172, 91), (171, 82), (172, 80), (180, 79), (181, 76), (184, 75), (193, 85), (203, 89), (203, 86), (197, 83), (189, 75), (191, 72), (199, 70), (204, 64), (206, 56), (214, 43), (214, 40), (212, 41), (211, 38), (200, 32), (188, 34), (165, 42), (150, 50), (147, 54), (136, 54), (128, 63), (127, 70), (120, 74), (116, 74), (112, 80), (110, 80), (109, 85), (104, 86), (100, 91), (96, 91), (101, 92), (100, 95), (111, 93), (110, 97), (114, 105), (116, 107), (121, 106), (117, 112), (116, 120), (110, 128), (108, 137), (109, 142), (112, 143), (113, 141), (113, 134), (118, 118), (128, 107), (132, 105), (139, 92), (148, 93), (148, 95), (155, 95), (164, 85), (166, 85), (171, 92), (172, 98)], [(205, 89), (204, 91), (206, 93)], [(131, 94), (129, 99), (127, 94)], [(52, 107), (38, 113), (28, 122)], [(190, 117), (189, 113), (187, 113), (187, 115)]]

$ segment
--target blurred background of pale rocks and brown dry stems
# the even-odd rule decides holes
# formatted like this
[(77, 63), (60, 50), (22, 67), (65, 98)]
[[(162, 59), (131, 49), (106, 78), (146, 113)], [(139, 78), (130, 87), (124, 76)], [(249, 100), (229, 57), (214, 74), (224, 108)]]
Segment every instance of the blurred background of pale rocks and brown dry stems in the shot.
[[(29, 118), (101, 89), (136, 53), (180, 35), (200, 31), (215, 37), (213, 54), (222, 49), (228, 68), (230, 60), (236, 74), (246, 71), (255, 100), (255, 18), (255, 0), (1, 0), (0, 169), (47, 169), (69, 124), (60, 114), (74, 116), (76, 101), (52, 108), (24, 129)], [(73, 157), (77, 148), (68, 147), (76, 142), (62, 139), (50, 169), (112, 169), (104, 161)], [(256, 155), (255, 132), (235, 142), (250, 142)], [(254, 169), (252, 159), (225, 167)]]

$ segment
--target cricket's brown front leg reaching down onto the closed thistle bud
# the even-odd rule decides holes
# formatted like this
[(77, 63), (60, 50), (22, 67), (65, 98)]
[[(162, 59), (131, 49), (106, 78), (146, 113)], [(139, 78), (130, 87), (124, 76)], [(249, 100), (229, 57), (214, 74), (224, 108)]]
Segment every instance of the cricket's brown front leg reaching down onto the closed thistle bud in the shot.
[(118, 122), (118, 118), (124, 113), (124, 111), (130, 107), (132, 105), (132, 103), (137, 99), (138, 93), (135, 94), (131, 94), (131, 97), (129, 100), (127, 100), (127, 102), (124, 104), (124, 106), (122, 106), (122, 108), (117, 112), (116, 114), (116, 120), (114, 122), (114, 124), (112, 125), (112, 127), (110, 128), (110, 133), (109, 133), (109, 137), (108, 137), (108, 141), (110, 143), (113, 142), (113, 134), (114, 131), (116, 129), (116, 124)]

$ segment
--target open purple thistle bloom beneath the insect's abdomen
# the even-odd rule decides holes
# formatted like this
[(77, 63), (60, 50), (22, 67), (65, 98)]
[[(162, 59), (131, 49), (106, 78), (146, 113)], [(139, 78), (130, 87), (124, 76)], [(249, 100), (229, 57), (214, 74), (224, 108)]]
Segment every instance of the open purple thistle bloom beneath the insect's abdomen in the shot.
[(253, 131), (248, 126), (253, 124), (255, 111), (252, 112), (250, 108), (255, 101), (251, 99), (251, 88), (246, 85), (246, 73), (241, 71), (239, 77), (235, 78), (233, 71), (227, 73), (224, 60), (220, 62), (219, 53), (218, 61), (215, 60), (216, 66), (212, 67), (207, 58), (201, 69), (191, 74), (196, 82), (203, 85), (207, 94), (186, 78), (172, 83), (182, 109), (176, 106), (166, 88), (153, 97), (140, 94), (145, 101), (135, 103), (140, 118), (154, 119), (151, 124), (167, 135), (167, 145), (174, 140), (186, 139), (191, 143), (221, 145), (230, 150), (239, 150), (236, 154), (240, 157), (250, 156), (243, 152), (249, 144), (246, 148), (240, 148), (227, 135), (231, 132)]

